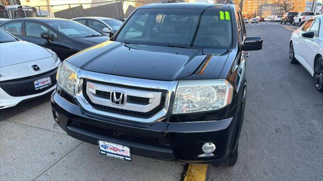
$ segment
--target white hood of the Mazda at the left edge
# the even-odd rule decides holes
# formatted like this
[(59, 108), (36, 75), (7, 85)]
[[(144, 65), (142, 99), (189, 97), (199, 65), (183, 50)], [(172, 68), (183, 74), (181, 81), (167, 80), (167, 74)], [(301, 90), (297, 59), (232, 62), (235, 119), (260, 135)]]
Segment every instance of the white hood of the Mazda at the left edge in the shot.
[(44, 48), (26, 41), (0, 44), (0, 67), (51, 57)]

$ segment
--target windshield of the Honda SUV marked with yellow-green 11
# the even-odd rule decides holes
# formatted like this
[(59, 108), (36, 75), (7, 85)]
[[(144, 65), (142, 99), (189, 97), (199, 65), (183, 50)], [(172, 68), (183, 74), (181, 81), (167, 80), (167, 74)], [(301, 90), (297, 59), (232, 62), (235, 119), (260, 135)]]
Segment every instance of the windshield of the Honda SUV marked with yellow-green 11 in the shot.
[(120, 31), (116, 41), (230, 49), (230, 12), (214, 9), (139, 9)]

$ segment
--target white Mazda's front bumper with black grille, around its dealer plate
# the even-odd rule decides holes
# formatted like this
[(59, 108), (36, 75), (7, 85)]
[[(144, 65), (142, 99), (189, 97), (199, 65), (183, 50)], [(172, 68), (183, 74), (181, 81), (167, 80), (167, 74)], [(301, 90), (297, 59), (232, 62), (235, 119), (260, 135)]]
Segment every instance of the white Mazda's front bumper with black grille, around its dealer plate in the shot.
[[(6, 80), (0, 82), (0, 109), (16, 106), (22, 101), (43, 96), (56, 88), (57, 68), (30, 77)], [(51, 84), (42, 89), (35, 90), (34, 81), (50, 77)]]

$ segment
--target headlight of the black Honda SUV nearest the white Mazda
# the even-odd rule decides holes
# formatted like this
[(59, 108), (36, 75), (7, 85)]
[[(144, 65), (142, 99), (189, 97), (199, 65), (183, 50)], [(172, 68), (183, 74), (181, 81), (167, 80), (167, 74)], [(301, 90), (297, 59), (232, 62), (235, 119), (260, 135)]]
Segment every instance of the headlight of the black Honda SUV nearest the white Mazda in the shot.
[(71, 96), (74, 95), (74, 88), (76, 84), (76, 68), (77, 67), (71, 63), (64, 61), (59, 66), (56, 75), (58, 85)]

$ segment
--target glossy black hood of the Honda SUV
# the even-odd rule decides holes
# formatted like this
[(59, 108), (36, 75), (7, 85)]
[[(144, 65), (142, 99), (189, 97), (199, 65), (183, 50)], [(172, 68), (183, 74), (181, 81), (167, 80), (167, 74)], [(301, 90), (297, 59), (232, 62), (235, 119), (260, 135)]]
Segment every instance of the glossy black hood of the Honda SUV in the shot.
[(229, 55), (225, 49), (185, 49), (106, 41), (67, 61), (83, 70), (127, 77), (216, 79)]

